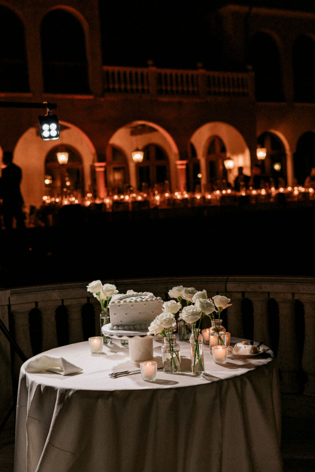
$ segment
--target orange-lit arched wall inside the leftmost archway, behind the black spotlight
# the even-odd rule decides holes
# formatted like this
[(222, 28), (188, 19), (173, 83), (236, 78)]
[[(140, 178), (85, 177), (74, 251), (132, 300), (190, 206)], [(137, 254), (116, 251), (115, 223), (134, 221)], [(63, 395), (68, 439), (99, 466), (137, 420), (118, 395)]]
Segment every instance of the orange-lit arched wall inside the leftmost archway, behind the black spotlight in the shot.
[(43, 202), (45, 159), (56, 143), (68, 144), (77, 149), (83, 159), (85, 192), (91, 189), (91, 166), (97, 160), (94, 145), (77, 126), (65, 121), (59, 123), (64, 129), (61, 129), (58, 141), (43, 141), (38, 135), (38, 126), (33, 126), (19, 138), (15, 146), (14, 162), (22, 169), (21, 192), (27, 207), (38, 207)]

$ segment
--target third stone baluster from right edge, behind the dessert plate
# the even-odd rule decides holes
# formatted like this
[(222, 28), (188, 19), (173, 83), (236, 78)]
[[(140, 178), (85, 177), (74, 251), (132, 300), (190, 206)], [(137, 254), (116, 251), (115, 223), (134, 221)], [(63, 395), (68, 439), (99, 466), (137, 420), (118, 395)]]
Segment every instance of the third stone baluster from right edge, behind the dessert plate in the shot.
[(270, 346), (270, 336), (268, 327), (268, 293), (267, 292), (246, 292), (245, 297), (249, 298), (254, 308), (254, 341), (264, 341), (265, 346)]

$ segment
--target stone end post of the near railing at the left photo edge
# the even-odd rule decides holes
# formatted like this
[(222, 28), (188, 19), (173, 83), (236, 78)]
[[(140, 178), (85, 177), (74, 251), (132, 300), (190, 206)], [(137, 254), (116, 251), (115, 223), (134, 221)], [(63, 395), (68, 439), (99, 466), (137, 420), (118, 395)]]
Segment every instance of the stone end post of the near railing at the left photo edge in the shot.
[[(0, 306), (0, 320), (9, 330), (8, 306)], [(13, 404), (10, 343), (0, 330), (0, 424)]]

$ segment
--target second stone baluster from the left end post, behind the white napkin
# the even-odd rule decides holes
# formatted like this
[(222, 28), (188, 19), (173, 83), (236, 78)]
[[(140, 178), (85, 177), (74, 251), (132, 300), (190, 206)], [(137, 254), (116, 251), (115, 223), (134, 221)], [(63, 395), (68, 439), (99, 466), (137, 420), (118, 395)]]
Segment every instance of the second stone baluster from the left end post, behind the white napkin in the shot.
[(55, 312), (60, 304), (61, 301), (56, 300), (38, 302), (38, 309), (42, 314), (43, 351), (48, 351), (58, 346)]

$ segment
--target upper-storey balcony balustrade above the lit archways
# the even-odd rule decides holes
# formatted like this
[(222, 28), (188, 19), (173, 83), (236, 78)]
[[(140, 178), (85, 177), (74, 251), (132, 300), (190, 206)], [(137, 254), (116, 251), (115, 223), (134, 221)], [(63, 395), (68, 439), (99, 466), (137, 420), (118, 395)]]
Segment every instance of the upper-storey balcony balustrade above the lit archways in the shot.
[(254, 76), (247, 72), (204, 69), (103, 66), (104, 93), (169, 97), (254, 97)]

